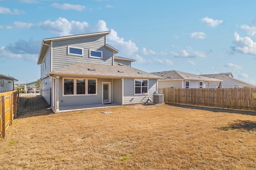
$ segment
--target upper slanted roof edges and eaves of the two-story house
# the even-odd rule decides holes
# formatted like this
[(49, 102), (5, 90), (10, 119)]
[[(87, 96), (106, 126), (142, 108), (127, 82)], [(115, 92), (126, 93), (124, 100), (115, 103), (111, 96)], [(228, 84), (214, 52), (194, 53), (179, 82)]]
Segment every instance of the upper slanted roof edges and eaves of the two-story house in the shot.
[[(69, 36), (64, 36), (64, 37), (54, 37), (54, 38), (43, 39), (37, 64), (42, 63), (42, 61), (44, 59), (44, 56), (46, 55), (47, 50), (50, 47), (50, 44), (51, 44), (52, 41), (60, 41), (60, 40), (64, 40), (64, 39), (91, 37), (91, 36), (96, 36), (96, 35), (108, 35), (109, 33), (110, 33), (110, 31), (104, 31), (104, 32), (98, 32), (98, 33), (86, 33), (86, 34), (79, 34), (79, 35), (69, 35)], [(114, 52), (114, 54), (119, 52), (117, 49), (111, 47), (108, 44), (106, 44), (105, 47), (112, 50)]]

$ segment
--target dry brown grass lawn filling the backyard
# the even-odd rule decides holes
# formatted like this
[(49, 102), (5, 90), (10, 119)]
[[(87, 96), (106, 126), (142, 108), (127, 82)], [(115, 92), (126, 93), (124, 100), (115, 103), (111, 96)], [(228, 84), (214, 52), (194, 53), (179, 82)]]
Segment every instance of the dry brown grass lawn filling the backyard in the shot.
[(256, 168), (255, 112), (168, 104), (43, 111), (14, 119), (0, 169)]

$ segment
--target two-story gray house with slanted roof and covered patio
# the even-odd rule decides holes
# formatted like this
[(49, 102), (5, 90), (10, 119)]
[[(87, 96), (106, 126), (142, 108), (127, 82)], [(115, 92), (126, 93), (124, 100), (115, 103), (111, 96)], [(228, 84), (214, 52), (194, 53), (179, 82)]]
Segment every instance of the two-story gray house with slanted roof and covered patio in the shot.
[(118, 50), (106, 43), (109, 33), (42, 40), (41, 88), (52, 88), (54, 112), (64, 106), (144, 103), (157, 93), (161, 77), (130, 67), (132, 59), (114, 56)]

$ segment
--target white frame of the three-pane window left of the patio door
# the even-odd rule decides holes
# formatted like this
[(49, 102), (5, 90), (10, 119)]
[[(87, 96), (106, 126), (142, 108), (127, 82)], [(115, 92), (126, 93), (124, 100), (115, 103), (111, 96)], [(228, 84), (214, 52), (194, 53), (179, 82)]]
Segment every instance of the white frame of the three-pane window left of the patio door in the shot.
[[(73, 79), (74, 81), (74, 94), (64, 94), (64, 80), (65, 79)], [(76, 94), (76, 80), (77, 79), (85, 79), (85, 94)], [(88, 80), (96, 80), (96, 93), (95, 94), (88, 94)], [(81, 78), (81, 77), (63, 77), (62, 78), (62, 96), (96, 96), (98, 89), (98, 81), (97, 78)]]

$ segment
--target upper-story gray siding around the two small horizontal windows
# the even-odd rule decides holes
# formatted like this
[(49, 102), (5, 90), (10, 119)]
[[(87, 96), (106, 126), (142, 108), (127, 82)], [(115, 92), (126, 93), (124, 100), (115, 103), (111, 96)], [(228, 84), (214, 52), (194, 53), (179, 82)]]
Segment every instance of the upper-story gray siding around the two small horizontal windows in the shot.
[[(68, 45), (84, 49), (84, 56), (68, 55)], [(90, 58), (89, 49), (103, 52), (103, 58)], [(52, 42), (52, 71), (74, 63), (112, 65), (113, 51), (105, 47), (105, 35)]]

